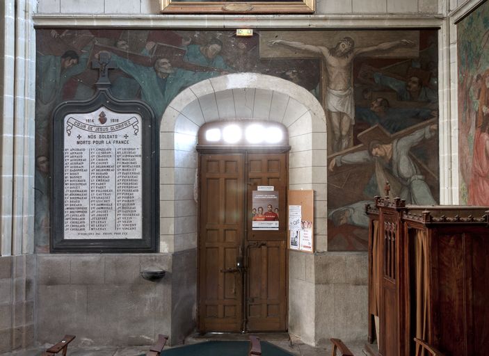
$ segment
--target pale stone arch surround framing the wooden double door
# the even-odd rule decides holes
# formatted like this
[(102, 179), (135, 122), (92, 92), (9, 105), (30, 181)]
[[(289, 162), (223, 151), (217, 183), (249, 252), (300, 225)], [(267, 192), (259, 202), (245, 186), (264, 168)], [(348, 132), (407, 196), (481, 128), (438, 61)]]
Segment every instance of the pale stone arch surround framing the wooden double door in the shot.
[[(206, 122), (230, 118), (282, 123), (291, 147), (289, 188), (314, 189), (315, 206), (326, 207), (326, 119), (321, 104), (310, 92), (274, 76), (240, 73), (202, 81), (175, 97), (160, 127), (160, 252), (173, 254), (178, 261), (175, 273), (179, 279), (172, 283), (172, 298), (178, 300), (178, 323), (189, 325), (188, 332), (197, 323), (198, 304), (198, 131)], [(326, 209), (317, 209), (314, 238), (319, 252), (326, 250), (326, 220)], [(301, 263), (300, 257), (289, 254), (289, 266)], [(302, 288), (300, 280), (291, 273), (289, 319), (303, 303), (299, 293), (293, 293)]]

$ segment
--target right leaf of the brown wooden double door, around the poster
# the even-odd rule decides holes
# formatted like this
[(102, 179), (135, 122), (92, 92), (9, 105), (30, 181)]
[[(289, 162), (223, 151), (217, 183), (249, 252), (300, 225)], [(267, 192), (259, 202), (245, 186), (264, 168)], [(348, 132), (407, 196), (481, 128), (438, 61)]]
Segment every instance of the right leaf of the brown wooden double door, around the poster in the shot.
[[(278, 231), (252, 230), (252, 191), (279, 191)], [(287, 330), (287, 154), (248, 154), (248, 330)]]

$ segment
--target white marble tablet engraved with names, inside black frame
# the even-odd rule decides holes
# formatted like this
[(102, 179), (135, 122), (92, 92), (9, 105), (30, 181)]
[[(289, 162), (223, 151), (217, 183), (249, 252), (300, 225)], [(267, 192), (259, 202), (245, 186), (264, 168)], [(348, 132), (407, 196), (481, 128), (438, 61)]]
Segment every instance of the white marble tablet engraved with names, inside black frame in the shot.
[(64, 238), (142, 238), (141, 116), (64, 118)]

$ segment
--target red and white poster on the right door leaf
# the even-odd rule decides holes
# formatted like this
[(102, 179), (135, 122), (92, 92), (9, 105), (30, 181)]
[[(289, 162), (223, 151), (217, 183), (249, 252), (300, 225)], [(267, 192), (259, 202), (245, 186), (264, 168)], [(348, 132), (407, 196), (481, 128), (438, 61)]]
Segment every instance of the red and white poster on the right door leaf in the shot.
[(252, 193), (252, 229), (278, 230), (278, 191), (258, 186)]

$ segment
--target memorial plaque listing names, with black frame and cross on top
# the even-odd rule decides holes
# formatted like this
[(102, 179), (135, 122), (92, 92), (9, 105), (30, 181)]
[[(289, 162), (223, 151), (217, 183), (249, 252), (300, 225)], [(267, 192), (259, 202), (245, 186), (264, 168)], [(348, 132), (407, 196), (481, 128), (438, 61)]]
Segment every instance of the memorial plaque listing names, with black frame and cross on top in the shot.
[(95, 96), (65, 102), (53, 114), (51, 252), (156, 251), (154, 113), (111, 95), (104, 58), (95, 64)]

